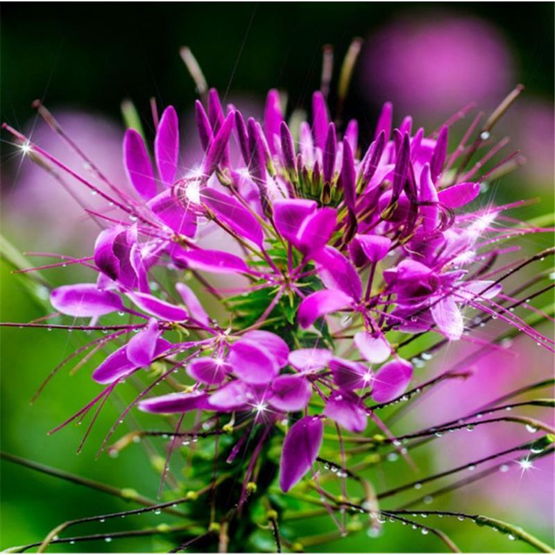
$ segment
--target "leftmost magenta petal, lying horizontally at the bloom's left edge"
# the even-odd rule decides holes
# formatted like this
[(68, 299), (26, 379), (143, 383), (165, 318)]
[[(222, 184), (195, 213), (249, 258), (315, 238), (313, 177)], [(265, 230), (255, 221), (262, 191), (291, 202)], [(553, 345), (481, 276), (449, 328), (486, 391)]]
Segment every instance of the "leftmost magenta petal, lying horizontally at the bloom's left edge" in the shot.
[(50, 293), (51, 305), (69, 316), (103, 316), (123, 310), (121, 298), (112, 291), (100, 291), (94, 283), (62, 285)]

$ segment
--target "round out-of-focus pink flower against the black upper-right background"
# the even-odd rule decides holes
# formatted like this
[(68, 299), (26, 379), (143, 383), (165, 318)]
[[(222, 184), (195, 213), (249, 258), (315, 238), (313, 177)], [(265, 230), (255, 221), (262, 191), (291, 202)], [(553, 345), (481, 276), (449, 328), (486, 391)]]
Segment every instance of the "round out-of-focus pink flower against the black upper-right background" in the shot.
[(513, 83), (499, 31), (475, 17), (398, 19), (368, 40), (361, 63), (370, 101), (441, 119), (468, 101), (498, 101)]

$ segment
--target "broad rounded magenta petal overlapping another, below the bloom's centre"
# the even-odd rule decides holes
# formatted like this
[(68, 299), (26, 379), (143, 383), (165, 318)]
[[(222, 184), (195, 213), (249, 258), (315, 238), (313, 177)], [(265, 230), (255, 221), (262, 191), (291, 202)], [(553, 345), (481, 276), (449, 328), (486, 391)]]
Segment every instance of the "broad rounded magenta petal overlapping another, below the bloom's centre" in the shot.
[(233, 367), (233, 372), (248, 384), (268, 384), (280, 372), (271, 352), (248, 339), (233, 343), (228, 363)]

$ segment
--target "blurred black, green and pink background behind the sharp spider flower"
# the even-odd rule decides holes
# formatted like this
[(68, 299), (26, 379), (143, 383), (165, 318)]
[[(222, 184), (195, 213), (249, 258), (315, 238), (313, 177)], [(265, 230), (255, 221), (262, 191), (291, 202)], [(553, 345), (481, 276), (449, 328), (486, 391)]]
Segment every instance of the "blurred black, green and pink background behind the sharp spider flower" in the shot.
[[(366, 141), (385, 100), (395, 104), (397, 123), (411, 113), (417, 125), (432, 129), (469, 101), (490, 110), (516, 83), (526, 85), (522, 99), (496, 135), (501, 138), (510, 132), (509, 148), (519, 148), (527, 164), (502, 182), (490, 184), (485, 196), (495, 196), (499, 202), (540, 198), (540, 203), (522, 208), (515, 216), (528, 219), (549, 212), (553, 206), (553, 20), (552, 3), (533, 2), (4, 3), (0, 22), (1, 120), (32, 133), (38, 144), (76, 164), (60, 139), (36, 119), (31, 102), (42, 99), (92, 160), (112, 179), (122, 182), (119, 107), (123, 99), (133, 100), (147, 135), (151, 130), (151, 96), (159, 106), (176, 106), (185, 121), (185, 134), (194, 135), (191, 108), (196, 95), (178, 55), (180, 46), (191, 47), (209, 85), (217, 87), (227, 101), (259, 114), (266, 90), (278, 87), (287, 91), (290, 113), (293, 108), (309, 109), (311, 92), (320, 83), (324, 44), (334, 46), (334, 101), (340, 61), (352, 37), (359, 36), (364, 38), (364, 45), (345, 116), (359, 118)], [(71, 196), (77, 195), (87, 205), (94, 205), (97, 199), (83, 195), (71, 182), (68, 194), (31, 162), (22, 160), (10, 147), (7, 135), (2, 139), (3, 235), (20, 251), (90, 253), (95, 228)], [(194, 138), (185, 143), (183, 156), (192, 163), (198, 144)], [(534, 252), (552, 242), (550, 235), (534, 237), (527, 240), (526, 248)], [(24, 280), (11, 275), (5, 262), (1, 264), (0, 319), (24, 322), (46, 314), (44, 304), (29, 294)], [(86, 274), (63, 268), (43, 275), (49, 283), (59, 284), (78, 281)], [(549, 297), (538, 302), (538, 306), (547, 304)], [(82, 433), (78, 427), (46, 436), (96, 391), (89, 379), (90, 364), (74, 376), (62, 370), (33, 406), (28, 402), (46, 373), (83, 345), (83, 338), (77, 335), (2, 330), (2, 450), (155, 496), (157, 473), (139, 447), (123, 452), (117, 460), (105, 455), (94, 457), (104, 432), (117, 417), (117, 398), (116, 406), (106, 407), (79, 456), (75, 454)], [(449, 357), (455, 355), (449, 353)], [(427, 365), (422, 375), (433, 375), (448, 361), (446, 356)], [(552, 357), (527, 340), (515, 342), (506, 353), (488, 357), (484, 364), (488, 387), (499, 394), (553, 371)], [(441, 421), (443, 416), (456, 416), (452, 415), (453, 399), (460, 403), (460, 413), (468, 412), (479, 404), (483, 386), (484, 381), (470, 380), (466, 389), (440, 390), (434, 398), (434, 418)], [(416, 411), (411, 418), (428, 422), (429, 411)], [(472, 454), (490, 450), (492, 445), (505, 445), (504, 441), (512, 445), (518, 433), (502, 427), (495, 437), (476, 431), (472, 442), (466, 436), (449, 438), (450, 443), (445, 441), (443, 447), (418, 453), (416, 461), (424, 473), (449, 468)], [(430, 508), (464, 509), (517, 521), (551, 542), (552, 472), (549, 461), (538, 463), (538, 468), (526, 475), (519, 470), (506, 472), (489, 485), (478, 483), (438, 500)], [(379, 486), (384, 486), (384, 475), (378, 472), (375, 476)], [(402, 468), (400, 475), (407, 476), (407, 468)], [(2, 549), (40, 540), (64, 520), (126, 507), (107, 495), (4, 462), (0, 495)], [(140, 518), (138, 523), (118, 523), (118, 528), (164, 521), (155, 515)], [(313, 524), (314, 531), (329, 529), (325, 520)], [(511, 552), (516, 547), (506, 537), (472, 524), (447, 520), (442, 524), (468, 551)], [(79, 533), (95, 531), (99, 531), (98, 525), (83, 526)], [(160, 539), (142, 538), (90, 544), (87, 549), (140, 552), (166, 547)], [(429, 552), (441, 548), (436, 539), (398, 525), (386, 525), (379, 538), (362, 533), (318, 547), (348, 552)], [(75, 551), (68, 545), (58, 549)], [(527, 546), (519, 543), (520, 549)]]

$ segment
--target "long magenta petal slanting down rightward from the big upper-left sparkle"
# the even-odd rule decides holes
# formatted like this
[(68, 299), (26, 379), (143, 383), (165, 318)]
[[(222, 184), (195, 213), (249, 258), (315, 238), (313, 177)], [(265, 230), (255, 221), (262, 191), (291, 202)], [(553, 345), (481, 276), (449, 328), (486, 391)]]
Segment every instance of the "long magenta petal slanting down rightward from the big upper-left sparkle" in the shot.
[(259, 221), (238, 200), (207, 187), (200, 192), (202, 202), (239, 236), (259, 247), (264, 243), (264, 231)]

